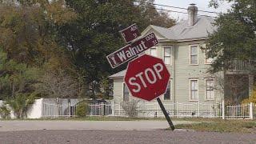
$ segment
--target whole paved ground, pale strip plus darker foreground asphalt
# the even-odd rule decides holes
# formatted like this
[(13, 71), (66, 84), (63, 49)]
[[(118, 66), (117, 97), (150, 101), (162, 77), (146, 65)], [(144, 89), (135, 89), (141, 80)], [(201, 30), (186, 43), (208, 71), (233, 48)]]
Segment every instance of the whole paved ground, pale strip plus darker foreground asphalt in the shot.
[[(188, 121), (175, 122), (190, 123)], [(0, 121), (0, 144), (256, 143), (256, 134), (164, 130), (166, 121)]]

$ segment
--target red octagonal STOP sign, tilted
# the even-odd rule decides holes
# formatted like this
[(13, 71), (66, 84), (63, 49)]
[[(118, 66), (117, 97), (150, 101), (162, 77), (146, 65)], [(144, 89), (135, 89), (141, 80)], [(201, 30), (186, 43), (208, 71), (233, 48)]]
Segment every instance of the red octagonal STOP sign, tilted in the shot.
[(162, 59), (144, 54), (129, 63), (125, 82), (134, 97), (151, 101), (166, 93), (169, 78)]

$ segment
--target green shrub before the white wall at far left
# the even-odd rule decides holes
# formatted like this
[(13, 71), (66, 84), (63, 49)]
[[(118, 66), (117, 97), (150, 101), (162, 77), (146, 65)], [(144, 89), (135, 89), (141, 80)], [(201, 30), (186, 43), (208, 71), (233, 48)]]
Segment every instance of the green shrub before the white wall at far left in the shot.
[(16, 118), (26, 118), (29, 106), (34, 103), (34, 96), (29, 94), (18, 94), (15, 98), (10, 98), (6, 104), (14, 111)]

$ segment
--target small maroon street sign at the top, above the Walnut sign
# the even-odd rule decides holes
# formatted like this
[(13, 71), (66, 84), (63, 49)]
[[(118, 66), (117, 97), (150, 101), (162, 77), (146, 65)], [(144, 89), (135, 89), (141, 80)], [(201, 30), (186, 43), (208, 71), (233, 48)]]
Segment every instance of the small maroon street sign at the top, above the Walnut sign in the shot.
[(138, 38), (141, 35), (138, 31), (138, 26), (135, 23), (119, 32), (126, 43), (132, 42), (135, 38)]

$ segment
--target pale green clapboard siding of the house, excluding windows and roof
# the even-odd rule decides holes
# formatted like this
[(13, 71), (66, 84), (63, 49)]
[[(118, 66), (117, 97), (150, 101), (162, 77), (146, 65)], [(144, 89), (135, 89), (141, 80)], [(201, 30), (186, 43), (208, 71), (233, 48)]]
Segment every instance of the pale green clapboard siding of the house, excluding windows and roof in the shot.
[[(190, 65), (190, 45), (198, 45), (198, 65)], [(167, 66), (170, 71), (171, 98), (164, 102), (192, 102), (190, 101), (190, 79), (198, 79), (198, 101), (193, 102), (220, 102), (223, 98), (221, 90), (214, 90), (214, 100), (206, 100), (206, 78), (214, 78), (215, 75), (206, 73), (210, 65), (205, 64), (205, 53), (200, 46), (205, 46), (204, 41), (193, 42), (161, 42), (156, 46), (157, 57), (163, 58), (165, 46), (172, 46), (172, 64)], [(146, 54), (149, 54), (146, 51)], [(223, 77), (223, 73), (218, 75)], [(122, 102), (123, 79), (114, 79), (114, 102)], [(215, 88), (217, 82), (214, 78)], [(163, 95), (160, 96), (163, 100)], [(155, 101), (155, 100), (154, 100)], [(153, 101), (153, 102), (154, 102)]]

